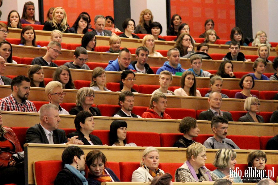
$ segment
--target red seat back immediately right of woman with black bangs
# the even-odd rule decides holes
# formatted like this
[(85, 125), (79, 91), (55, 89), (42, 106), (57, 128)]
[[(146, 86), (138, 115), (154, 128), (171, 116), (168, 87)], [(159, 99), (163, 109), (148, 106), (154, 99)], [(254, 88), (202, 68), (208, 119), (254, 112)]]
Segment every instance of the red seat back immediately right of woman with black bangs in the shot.
[(127, 132), (126, 143), (131, 142), (137, 146), (160, 146), (159, 134), (155, 132)]

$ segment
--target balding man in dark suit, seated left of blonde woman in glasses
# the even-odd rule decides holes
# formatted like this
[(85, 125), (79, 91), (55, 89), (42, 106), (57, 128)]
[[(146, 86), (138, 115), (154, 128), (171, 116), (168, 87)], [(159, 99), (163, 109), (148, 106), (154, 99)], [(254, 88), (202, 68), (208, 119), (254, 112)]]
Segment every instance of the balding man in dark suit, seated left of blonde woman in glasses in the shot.
[(220, 110), (222, 104), (222, 96), (220, 92), (211, 92), (208, 96), (208, 103), (210, 108), (199, 114), (198, 120), (211, 121), (214, 116), (225, 116), (229, 121), (234, 121), (232, 114), (229, 112), (222, 112)]

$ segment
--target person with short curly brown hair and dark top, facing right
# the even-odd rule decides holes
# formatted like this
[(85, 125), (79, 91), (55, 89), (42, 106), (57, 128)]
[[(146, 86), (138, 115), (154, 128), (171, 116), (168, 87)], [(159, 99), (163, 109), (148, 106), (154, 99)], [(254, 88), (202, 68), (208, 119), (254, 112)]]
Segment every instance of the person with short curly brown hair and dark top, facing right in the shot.
[(184, 117), (179, 123), (179, 132), (183, 133), (183, 137), (175, 142), (173, 147), (187, 148), (195, 143), (193, 137), (198, 137), (200, 129), (197, 121), (193, 117)]

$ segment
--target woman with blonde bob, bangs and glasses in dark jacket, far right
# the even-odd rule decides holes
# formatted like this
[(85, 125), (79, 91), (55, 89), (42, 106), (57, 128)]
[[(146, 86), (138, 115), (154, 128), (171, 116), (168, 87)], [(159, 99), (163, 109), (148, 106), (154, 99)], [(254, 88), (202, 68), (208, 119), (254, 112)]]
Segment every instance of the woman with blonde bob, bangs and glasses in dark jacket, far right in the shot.
[(256, 97), (248, 97), (244, 101), (244, 110), (247, 111), (245, 116), (238, 119), (239, 122), (253, 122), (253, 123), (264, 123), (262, 116), (256, 114), (259, 112), (260, 101)]

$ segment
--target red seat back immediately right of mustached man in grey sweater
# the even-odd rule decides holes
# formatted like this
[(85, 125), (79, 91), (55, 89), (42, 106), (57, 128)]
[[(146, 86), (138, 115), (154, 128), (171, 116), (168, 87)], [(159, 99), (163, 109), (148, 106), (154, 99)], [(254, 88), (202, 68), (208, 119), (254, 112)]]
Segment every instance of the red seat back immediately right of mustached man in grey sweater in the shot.
[(233, 140), (233, 142), (240, 149), (260, 150), (260, 141), (258, 136), (228, 135), (226, 138)]

